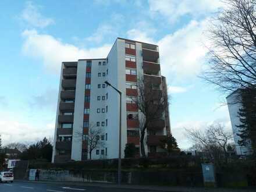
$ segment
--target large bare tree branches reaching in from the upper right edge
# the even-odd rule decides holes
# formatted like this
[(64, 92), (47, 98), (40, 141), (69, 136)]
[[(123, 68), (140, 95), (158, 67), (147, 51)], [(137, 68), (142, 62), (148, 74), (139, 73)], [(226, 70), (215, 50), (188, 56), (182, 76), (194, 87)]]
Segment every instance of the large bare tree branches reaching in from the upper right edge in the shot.
[(223, 0), (207, 31), (209, 63), (201, 76), (226, 93), (256, 83), (256, 1)]

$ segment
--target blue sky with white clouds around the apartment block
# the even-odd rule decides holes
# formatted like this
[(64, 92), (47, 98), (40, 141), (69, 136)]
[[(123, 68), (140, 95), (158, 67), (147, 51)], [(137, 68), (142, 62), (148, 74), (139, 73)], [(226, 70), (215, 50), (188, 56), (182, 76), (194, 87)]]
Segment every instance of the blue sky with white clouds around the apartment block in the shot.
[(159, 46), (180, 148), (184, 129), (222, 123), (225, 97), (198, 76), (207, 66), (209, 19), (217, 0), (0, 1), (0, 134), (3, 144), (54, 137), (62, 61), (105, 58), (117, 37)]

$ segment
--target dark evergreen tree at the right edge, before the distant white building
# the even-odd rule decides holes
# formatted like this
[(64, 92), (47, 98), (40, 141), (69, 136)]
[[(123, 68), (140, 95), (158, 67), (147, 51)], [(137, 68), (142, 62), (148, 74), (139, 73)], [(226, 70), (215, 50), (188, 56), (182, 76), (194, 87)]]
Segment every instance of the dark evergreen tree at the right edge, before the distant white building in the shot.
[(238, 115), (241, 124), (238, 136), (241, 137), (239, 144), (248, 146), (251, 144), (254, 154), (256, 153), (256, 88), (246, 88), (240, 91), (242, 108)]

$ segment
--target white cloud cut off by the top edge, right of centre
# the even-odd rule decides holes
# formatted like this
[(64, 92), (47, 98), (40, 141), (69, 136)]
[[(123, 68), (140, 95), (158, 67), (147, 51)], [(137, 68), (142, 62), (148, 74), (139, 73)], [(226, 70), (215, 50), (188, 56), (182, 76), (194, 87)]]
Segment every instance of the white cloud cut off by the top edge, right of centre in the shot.
[(168, 18), (173, 23), (184, 15), (193, 17), (204, 16), (215, 12), (222, 7), (219, 0), (149, 0), (150, 13), (160, 14)]

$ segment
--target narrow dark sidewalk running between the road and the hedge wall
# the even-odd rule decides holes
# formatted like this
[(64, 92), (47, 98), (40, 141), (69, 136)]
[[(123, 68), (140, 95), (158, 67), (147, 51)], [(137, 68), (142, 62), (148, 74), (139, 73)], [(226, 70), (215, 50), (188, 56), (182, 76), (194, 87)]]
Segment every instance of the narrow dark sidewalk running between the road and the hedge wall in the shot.
[(151, 190), (151, 191), (172, 191), (172, 192), (255, 192), (255, 189), (228, 189), (228, 188), (204, 188), (204, 187), (176, 187), (176, 186), (144, 186), (144, 185), (130, 185), (113, 183), (87, 183), (87, 182), (48, 182), (48, 181), (27, 181), (27, 180), (16, 180), (16, 182), (30, 182), (30, 183), (48, 183), (48, 184), (65, 184), (70, 186), (91, 186), (91, 187), (102, 187), (102, 188), (119, 188), (119, 189), (136, 189), (136, 190)]

